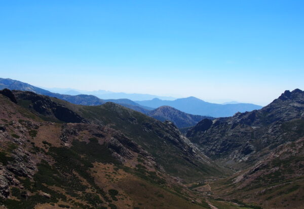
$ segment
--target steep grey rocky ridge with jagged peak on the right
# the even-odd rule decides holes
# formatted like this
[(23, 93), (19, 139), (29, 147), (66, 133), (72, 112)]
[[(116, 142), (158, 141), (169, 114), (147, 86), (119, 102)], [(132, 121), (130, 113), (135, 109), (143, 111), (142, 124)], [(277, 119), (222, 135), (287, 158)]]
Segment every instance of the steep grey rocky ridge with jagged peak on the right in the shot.
[(252, 165), (277, 146), (304, 135), (304, 92), (285, 91), (261, 110), (204, 119), (186, 136), (225, 165)]

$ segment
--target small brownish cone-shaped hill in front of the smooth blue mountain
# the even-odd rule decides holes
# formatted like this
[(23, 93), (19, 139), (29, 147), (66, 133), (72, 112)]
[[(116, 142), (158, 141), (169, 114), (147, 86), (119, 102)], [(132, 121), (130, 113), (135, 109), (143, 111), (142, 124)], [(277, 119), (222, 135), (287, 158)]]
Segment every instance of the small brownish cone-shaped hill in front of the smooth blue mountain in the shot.
[(153, 117), (157, 120), (160, 120), (162, 122), (169, 120), (173, 122), (178, 128), (186, 128), (186, 127), (194, 126), (199, 121), (205, 118), (212, 119), (211, 117), (206, 117), (206, 116), (186, 114), (169, 106), (159, 107), (155, 110), (148, 112), (146, 115)]

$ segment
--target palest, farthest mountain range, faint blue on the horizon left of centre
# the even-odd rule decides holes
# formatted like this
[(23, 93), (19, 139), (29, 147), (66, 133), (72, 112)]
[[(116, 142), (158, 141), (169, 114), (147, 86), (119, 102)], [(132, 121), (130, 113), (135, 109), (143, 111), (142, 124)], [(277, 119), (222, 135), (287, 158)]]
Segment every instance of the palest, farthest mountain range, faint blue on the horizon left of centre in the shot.
[[(42, 87), (43, 88), (43, 87)], [(96, 90), (96, 91), (83, 91), (72, 88), (43, 88), (47, 89), (51, 92), (60, 93), (60, 94), (69, 94), (69, 95), (79, 95), (79, 94), (89, 94), (97, 96), (101, 99), (119, 99), (119, 98), (127, 98), (131, 100), (149, 100), (153, 98), (166, 99), (166, 100), (174, 100), (176, 98), (171, 96), (157, 96), (151, 94), (141, 94), (141, 93), (124, 93), (124, 92), (112, 92), (106, 90)]]

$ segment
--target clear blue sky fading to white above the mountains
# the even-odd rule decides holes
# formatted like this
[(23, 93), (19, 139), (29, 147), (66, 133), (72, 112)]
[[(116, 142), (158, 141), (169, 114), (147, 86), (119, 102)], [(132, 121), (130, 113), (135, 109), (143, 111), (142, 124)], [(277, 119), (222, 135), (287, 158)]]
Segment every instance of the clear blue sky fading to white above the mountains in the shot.
[(304, 1), (1, 1), (0, 77), (266, 105), (304, 90)]

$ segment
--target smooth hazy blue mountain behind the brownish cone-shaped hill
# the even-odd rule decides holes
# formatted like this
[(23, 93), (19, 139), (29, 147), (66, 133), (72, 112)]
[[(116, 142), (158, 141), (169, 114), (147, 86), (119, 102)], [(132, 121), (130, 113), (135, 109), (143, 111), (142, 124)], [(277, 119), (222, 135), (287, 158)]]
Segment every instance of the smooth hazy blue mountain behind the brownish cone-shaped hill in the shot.
[(151, 108), (170, 106), (188, 114), (210, 116), (215, 118), (230, 117), (237, 112), (244, 113), (246, 111), (259, 110), (262, 108), (261, 106), (253, 105), (250, 103), (220, 105), (216, 103), (209, 103), (193, 96), (187, 98), (179, 98), (173, 101), (154, 98), (151, 100), (135, 102), (139, 103), (139, 105), (148, 106)]

